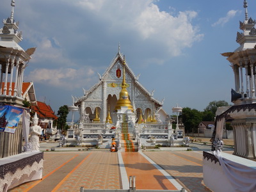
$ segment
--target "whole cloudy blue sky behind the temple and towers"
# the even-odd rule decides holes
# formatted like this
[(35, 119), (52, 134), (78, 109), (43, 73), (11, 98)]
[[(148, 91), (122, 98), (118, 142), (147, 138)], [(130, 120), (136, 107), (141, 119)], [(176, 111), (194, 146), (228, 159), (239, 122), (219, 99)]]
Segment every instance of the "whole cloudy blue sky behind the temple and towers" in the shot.
[[(10, 17), (10, 3), (1, 1), (0, 19)], [(248, 0), (248, 15), (255, 14), (256, 2)], [(22, 0), (14, 17), (20, 45), (36, 47), (24, 81), (34, 81), (36, 99), (56, 112), (97, 83), (118, 42), (168, 114), (176, 104), (202, 111), (212, 100), (231, 103), (234, 76), (220, 53), (239, 47), (243, 0)]]

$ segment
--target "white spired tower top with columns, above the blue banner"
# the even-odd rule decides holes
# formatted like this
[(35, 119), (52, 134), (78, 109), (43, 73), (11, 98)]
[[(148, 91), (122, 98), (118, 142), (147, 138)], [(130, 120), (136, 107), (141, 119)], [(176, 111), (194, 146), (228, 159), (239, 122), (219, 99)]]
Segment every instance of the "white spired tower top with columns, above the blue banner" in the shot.
[(0, 95), (4, 95), (4, 97), (0, 97), (0, 102), (23, 105), (23, 74), (26, 63), (31, 59), (35, 48), (24, 51), (20, 47), (19, 42), (22, 40), (22, 33), (21, 31), (18, 32), (19, 22), (15, 22), (13, 16), (14, 0), (12, 0), (11, 6), (11, 16), (3, 20), (4, 26), (0, 29)]

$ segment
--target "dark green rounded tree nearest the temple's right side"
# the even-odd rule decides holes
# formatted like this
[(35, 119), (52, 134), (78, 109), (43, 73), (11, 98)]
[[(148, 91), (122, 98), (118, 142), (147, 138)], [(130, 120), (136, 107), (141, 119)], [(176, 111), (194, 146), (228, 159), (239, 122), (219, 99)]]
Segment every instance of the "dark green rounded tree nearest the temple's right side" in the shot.
[(183, 108), (181, 118), (186, 132), (196, 132), (202, 122), (202, 113), (196, 109)]

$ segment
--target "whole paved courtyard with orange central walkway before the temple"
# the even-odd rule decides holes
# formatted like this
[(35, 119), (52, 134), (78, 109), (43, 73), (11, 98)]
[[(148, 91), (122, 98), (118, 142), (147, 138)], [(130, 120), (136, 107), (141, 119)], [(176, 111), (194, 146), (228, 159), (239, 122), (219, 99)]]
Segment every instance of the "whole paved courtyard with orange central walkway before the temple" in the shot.
[[(52, 147), (55, 151), (51, 151)], [(168, 147), (111, 153), (108, 149), (40, 143), (40, 150), (45, 151), (43, 179), (10, 191), (122, 189), (129, 188), (130, 175), (136, 176), (136, 189), (211, 191), (204, 186), (202, 161), (203, 151), (209, 151), (211, 145), (194, 142), (189, 148), (191, 151)], [(232, 154), (233, 148), (226, 146), (223, 152)]]

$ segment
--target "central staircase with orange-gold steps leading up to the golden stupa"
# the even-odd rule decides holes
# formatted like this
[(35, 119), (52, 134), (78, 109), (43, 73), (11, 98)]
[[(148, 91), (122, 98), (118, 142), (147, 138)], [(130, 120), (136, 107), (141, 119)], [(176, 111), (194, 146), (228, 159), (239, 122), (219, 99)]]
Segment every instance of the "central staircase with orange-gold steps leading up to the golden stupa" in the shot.
[[(130, 128), (130, 129), (129, 129)], [(131, 125), (125, 120), (122, 123), (122, 140), (121, 145), (124, 147), (125, 152), (138, 152), (138, 143), (136, 143), (133, 134), (129, 132)]]

